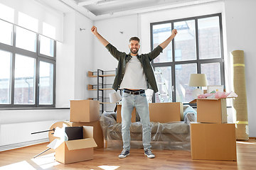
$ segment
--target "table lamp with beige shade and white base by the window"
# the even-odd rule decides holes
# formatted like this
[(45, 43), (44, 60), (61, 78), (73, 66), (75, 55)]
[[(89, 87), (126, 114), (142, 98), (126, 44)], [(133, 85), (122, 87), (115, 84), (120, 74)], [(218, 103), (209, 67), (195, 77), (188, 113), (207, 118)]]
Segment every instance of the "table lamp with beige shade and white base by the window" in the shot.
[[(207, 86), (206, 74), (190, 74), (188, 86)], [(193, 98), (198, 98), (203, 94), (203, 90), (196, 88), (192, 91)]]

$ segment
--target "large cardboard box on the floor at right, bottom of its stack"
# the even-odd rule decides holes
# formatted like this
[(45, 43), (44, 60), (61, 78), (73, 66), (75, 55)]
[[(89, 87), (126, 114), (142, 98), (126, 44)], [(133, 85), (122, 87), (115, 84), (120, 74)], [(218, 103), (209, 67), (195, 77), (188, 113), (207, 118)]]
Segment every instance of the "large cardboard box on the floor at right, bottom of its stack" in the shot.
[(191, 123), (192, 159), (236, 161), (234, 123)]

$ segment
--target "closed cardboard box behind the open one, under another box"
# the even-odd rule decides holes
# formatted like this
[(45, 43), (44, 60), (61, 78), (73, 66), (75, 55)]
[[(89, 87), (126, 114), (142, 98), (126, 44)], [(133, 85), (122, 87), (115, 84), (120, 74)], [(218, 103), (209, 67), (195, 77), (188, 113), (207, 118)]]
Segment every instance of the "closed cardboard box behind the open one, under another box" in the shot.
[(104, 147), (104, 137), (102, 128), (100, 126), (100, 121), (97, 120), (95, 122), (91, 123), (73, 123), (73, 122), (65, 122), (68, 123), (71, 127), (78, 127), (78, 126), (92, 126), (93, 127), (93, 139), (95, 140), (97, 147), (95, 148), (101, 148)]

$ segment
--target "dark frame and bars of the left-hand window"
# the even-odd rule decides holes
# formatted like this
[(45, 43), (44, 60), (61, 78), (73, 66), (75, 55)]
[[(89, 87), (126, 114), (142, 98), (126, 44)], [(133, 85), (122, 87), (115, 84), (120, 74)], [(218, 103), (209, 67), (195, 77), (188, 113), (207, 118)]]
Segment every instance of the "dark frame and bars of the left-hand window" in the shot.
[[(9, 23), (8, 21), (5, 21)], [(1, 108), (55, 108), (55, 84), (56, 84), (56, 41), (53, 40), (53, 57), (40, 54), (40, 38), (39, 34), (36, 33), (36, 52), (31, 52), (29, 50), (23, 50), (21, 48), (16, 47), (16, 26), (13, 24), (13, 35), (12, 35), (12, 45), (6, 45), (4, 43), (0, 42), (0, 50), (10, 52), (11, 53), (11, 86), (10, 86), (10, 98), (11, 102), (10, 104), (0, 104), (0, 110)], [(21, 27), (22, 28), (22, 27)], [(23, 28), (26, 29), (26, 28)], [(28, 29), (26, 29), (28, 30)], [(31, 31), (31, 30), (29, 30)], [(31, 31), (33, 32), (33, 31)], [(35, 33), (35, 32), (33, 32)], [(44, 36), (44, 35), (41, 35)], [(51, 39), (51, 38), (50, 38)], [(23, 55), (26, 57), (31, 57), (36, 60), (35, 69), (36, 69), (36, 79), (35, 79), (35, 103), (34, 104), (14, 104), (14, 83), (15, 83), (15, 58), (17, 55)], [(52, 104), (46, 104), (42, 105), (39, 104), (39, 63), (40, 62), (48, 62), (50, 64), (53, 64), (53, 103)]]

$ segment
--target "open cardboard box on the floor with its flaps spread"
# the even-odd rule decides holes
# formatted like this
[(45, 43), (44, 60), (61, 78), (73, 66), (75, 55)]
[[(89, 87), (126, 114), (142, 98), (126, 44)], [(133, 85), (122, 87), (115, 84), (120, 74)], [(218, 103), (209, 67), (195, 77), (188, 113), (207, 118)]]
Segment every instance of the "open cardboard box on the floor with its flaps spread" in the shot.
[(97, 147), (93, 140), (93, 127), (84, 126), (83, 137), (82, 140), (55, 139), (47, 147), (55, 149), (55, 160), (63, 164), (91, 160), (93, 159), (93, 147)]

